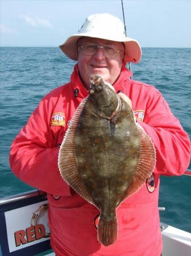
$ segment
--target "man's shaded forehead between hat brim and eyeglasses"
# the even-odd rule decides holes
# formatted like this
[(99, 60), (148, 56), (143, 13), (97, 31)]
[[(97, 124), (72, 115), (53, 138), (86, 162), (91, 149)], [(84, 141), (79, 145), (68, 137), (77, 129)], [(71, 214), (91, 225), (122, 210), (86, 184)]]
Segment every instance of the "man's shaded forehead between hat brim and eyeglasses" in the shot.
[(124, 49), (124, 44), (121, 42), (115, 42), (115, 41), (100, 39), (100, 38), (89, 38), (88, 36), (82, 36), (78, 40), (78, 44), (84, 44), (84, 43), (96, 43), (100, 45), (107, 44), (107, 45), (115, 46), (120, 49)]

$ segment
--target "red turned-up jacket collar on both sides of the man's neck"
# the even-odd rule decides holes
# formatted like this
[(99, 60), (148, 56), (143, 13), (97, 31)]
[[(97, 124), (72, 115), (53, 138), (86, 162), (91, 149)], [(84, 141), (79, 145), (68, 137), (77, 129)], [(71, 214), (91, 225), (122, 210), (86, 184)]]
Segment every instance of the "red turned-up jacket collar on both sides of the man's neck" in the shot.
[[(124, 86), (128, 86), (130, 82), (130, 76), (133, 74), (125, 67), (125, 64), (122, 66), (120, 76), (118, 79), (114, 82), (113, 87), (118, 92), (118, 90), (121, 90), (123, 92)], [(71, 85), (73, 87), (73, 90), (78, 90), (78, 99), (83, 99), (88, 96), (88, 90), (86, 87), (82, 84), (82, 81), (80, 80), (79, 73), (78, 73), (78, 64), (75, 64), (74, 71), (71, 74)]]

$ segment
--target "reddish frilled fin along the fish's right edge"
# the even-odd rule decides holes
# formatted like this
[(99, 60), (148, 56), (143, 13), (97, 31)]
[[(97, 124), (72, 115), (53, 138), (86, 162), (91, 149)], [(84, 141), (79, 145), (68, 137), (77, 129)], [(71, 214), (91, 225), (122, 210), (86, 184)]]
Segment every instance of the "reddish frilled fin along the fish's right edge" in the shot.
[(139, 131), (141, 142), (139, 160), (129, 189), (125, 193), (122, 201), (125, 200), (126, 197), (133, 195), (143, 186), (143, 184), (145, 184), (146, 179), (148, 179), (154, 171), (156, 164), (156, 150), (154, 143), (139, 123), (136, 123), (136, 126)]

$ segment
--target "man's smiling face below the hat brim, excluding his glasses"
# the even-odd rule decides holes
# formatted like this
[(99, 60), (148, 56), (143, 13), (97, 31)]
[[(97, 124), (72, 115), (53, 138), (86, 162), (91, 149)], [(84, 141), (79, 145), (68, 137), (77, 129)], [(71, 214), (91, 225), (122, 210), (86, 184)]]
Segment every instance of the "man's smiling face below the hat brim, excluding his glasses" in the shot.
[[(94, 55), (84, 55), (84, 49), (80, 46), (111, 46), (117, 49), (116, 56), (105, 57), (103, 48), (97, 48)], [(113, 84), (120, 75), (124, 57), (124, 45), (121, 42), (113, 42), (98, 38), (80, 38), (78, 42), (78, 68), (84, 86), (90, 87), (90, 76), (100, 75), (103, 80)]]

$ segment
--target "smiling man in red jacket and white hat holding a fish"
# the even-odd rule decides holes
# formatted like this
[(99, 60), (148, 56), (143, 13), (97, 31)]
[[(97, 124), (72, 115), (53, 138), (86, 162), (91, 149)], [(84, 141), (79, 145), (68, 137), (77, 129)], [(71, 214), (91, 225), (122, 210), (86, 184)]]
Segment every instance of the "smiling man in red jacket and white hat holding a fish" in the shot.
[[(89, 16), (61, 49), (78, 64), (71, 81), (43, 98), (15, 138), (10, 153), (12, 171), (48, 193), (51, 245), (56, 255), (159, 256), (159, 175), (181, 175), (186, 170), (190, 159), (188, 135), (154, 86), (130, 80), (131, 72), (125, 65), (127, 61), (139, 62), (141, 47), (125, 37), (118, 18), (109, 14)], [(57, 164), (63, 136), (75, 109), (88, 96), (92, 74), (101, 75), (129, 102), (156, 148), (154, 174), (117, 209), (118, 238), (107, 247), (97, 242), (99, 210), (63, 181)]]

